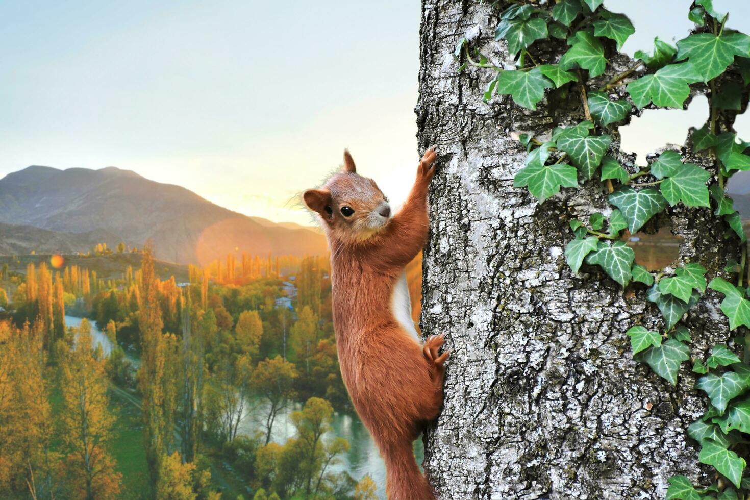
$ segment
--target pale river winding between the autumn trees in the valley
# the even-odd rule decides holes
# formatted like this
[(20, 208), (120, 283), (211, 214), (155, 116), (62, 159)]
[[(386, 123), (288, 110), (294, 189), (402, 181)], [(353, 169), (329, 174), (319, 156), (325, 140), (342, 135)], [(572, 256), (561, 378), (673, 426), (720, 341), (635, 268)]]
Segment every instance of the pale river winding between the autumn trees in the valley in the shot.
[[(75, 316), (65, 316), (65, 325), (78, 327), (81, 324), (81, 318)], [(101, 346), (102, 352), (105, 355), (109, 355), (112, 352), (113, 345), (110, 339), (99, 330), (96, 322), (91, 322), (92, 327), (92, 343), (96, 348)], [(140, 364), (140, 360), (135, 356), (127, 353), (125, 357), (133, 363), (134, 366)], [(257, 403), (256, 403), (257, 404)], [(296, 409), (302, 409), (302, 403), (294, 403), (290, 405), (284, 412), (281, 412), (274, 423), (274, 428), (271, 433), (271, 439), (273, 442), (277, 442), (280, 445), (284, 445), (287, 439), (295, 436), (296, 429), (290, 419), (290, 414)], [(248, 414), (254, 413), (248, 408)], [(248, 415), (242, 423), (242, 433), (253, 434), (257, 430), (265, 429), (260, 421), (257, 421)], [(341, 437), (347, 439), (351, 448), (343, 457), (340, 458), (341, 463), (330, 467), (329, 472), (342, 472), (346, 471), (359, 481), (363, 476), (369, 474), (375, 484), (377, 484), (378, 496), (380, 498), (386, 498), (386, 466), (383, 464), (383, 459), (378, 453), (375, 443), (370, 437), (370, 434), (365, 429), (362, 421), (359, 420), (357, 415), (347, 415), (346, 413), (334, 413), (332, 431), (326, 433), (323, 439), (332, 439), (334, 437)], [(422, 463), (424, 457), (424, 450), (422, 447), (422, 441), (417, 440), (414, 444), (414, 454), (417, 458), (417, 463)]]

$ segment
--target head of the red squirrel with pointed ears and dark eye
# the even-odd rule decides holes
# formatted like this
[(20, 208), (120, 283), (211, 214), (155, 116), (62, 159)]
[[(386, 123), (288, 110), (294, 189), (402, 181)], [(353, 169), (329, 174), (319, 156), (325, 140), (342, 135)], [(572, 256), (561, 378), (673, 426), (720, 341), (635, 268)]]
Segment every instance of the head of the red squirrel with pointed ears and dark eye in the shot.
[(391, 205), (371, 178), (357, 173), (349, 151), (344, 150), (344, 167), (320, 189), (302, 195), (305, 205), (317, 212), (329, 235), (342, 242), (356, 243), (386, 227)]

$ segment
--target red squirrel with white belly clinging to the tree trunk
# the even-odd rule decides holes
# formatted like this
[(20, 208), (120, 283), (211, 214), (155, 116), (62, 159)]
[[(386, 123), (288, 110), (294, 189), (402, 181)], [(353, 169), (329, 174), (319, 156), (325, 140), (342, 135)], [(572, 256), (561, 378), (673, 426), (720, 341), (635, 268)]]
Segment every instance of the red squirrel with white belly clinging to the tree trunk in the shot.
[(443, 406), (443, 335), (422, 345), (411, 319), (405, 266), (425, 246), (427, 190), (435, 173), (428, 149), (403, 208), (391, 207), (375, 181), (344, 168), (303, 198), (317, 212), (331, 251), (333, 322), (341, 376), (386, 461), (390, 500), (434, 499), (413, 442)]

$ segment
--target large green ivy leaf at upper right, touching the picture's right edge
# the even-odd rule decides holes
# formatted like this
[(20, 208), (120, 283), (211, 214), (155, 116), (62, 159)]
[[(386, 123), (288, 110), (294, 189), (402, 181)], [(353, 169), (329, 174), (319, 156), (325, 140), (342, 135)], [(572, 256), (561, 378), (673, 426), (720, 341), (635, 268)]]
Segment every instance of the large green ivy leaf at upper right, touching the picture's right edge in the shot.
[(677, 42), (677, 61), (687, 58), (703, 82), (724, 73), (734, 61), (735, 55), (747, 56), (748, 53), (750, 37), (742, 33), (724, 31), (718, 36), (697, 33)]

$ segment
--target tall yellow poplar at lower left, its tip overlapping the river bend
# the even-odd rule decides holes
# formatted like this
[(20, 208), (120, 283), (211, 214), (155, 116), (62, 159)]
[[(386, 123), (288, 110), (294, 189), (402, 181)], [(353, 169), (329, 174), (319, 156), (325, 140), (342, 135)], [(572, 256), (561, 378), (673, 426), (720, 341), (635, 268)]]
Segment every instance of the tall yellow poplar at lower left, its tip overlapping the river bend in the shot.
[(59, 361), (59, 425), (69, 486), (74, 496), (87, 500), (114, 499), (120, 492), (121, 474), (108, 449), (115, 418), (107, 409), (104, 363), (101, 349), (92, 349), (91, 327), (84, 319), (74, 348)]

